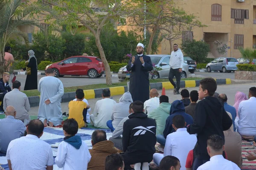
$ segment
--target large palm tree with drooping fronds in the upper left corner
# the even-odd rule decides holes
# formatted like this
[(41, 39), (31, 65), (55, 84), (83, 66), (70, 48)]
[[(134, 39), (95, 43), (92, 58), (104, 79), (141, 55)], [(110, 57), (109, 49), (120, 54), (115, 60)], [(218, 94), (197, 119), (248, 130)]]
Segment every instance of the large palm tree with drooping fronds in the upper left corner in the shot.
[(23, 3), (23, 0), (0, 0), (0, 75), (6, 71), (4, 48), (6, 43), (17, 37), (22, 37), (28, 43), (26, 33), (21, 32), (20, 26), (39, 26), (33, 19), (34, 14), (47, 10), (37, 3)]

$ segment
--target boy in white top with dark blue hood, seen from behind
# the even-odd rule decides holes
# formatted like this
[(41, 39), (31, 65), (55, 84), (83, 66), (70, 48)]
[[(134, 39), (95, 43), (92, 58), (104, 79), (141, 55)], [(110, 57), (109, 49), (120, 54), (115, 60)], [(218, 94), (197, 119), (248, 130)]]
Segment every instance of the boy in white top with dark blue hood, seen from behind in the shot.
[(80, 136), (75, 136), (78, 132), (78, 123), (75, 119), (67, 119), (63, 124), (64, 141), (58, 146), (58, 153), (55, 163), (63, 170), (87, 170), (87, 165), (91, 159), (87, 144)]

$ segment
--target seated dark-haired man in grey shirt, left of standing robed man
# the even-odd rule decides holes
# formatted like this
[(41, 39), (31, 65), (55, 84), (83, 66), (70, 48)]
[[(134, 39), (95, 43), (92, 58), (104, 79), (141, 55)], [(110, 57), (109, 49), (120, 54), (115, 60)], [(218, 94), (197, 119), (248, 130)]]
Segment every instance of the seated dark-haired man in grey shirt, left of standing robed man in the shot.
[(20, 91), (20, 85), (20, 82), (17, 80), (12, 83), (12, 91), (7, 93), (3, 98), (3, 109), (6, 111), (8, 106), (16, 108), (17, 113), (15, 119), (21, 120), (26, 126), (30, 122), (28, 114), (30, 105), (26, 94)]

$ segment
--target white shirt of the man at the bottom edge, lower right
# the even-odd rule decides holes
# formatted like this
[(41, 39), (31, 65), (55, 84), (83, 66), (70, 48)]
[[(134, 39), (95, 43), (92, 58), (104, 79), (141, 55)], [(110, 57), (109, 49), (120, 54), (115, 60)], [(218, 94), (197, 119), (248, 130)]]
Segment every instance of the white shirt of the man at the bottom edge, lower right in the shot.
[(222, 155), (215, 155), (197, 170), (241, 170), (235, 163), (224, 159)]

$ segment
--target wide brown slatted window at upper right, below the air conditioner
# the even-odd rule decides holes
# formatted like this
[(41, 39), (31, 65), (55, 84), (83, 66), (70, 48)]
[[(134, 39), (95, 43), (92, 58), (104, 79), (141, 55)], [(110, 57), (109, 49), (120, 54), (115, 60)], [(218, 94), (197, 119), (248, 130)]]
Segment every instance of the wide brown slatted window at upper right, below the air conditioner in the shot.
[(231, 9), (231, 18), (235, 19), (235, 24), (244, 24), (244, 19), (249, 19), (249, 10)]

